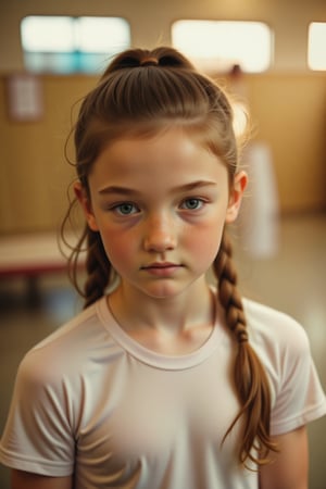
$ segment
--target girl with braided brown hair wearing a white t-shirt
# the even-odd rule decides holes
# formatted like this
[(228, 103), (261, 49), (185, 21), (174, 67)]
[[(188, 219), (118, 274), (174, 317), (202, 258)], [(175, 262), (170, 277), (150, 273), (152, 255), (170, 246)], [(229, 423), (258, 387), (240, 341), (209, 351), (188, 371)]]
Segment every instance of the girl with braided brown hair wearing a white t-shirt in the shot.
[(20, 366), (12, 487), (306, 488), (325, 396), (301, 326), (237, 291), (225, 225), (247, 175), (224, 92), (171, 48), (128, 50), (75, 146), (85, 310)]

